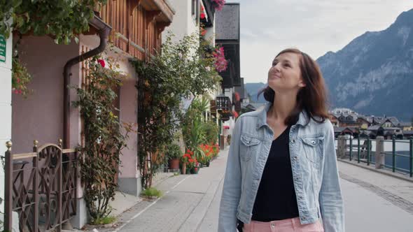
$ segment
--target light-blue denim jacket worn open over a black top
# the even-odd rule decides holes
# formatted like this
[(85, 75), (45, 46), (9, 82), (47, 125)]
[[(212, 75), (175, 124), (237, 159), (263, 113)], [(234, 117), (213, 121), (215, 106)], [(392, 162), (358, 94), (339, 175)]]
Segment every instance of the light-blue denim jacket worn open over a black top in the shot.
[[(235, 123), (219, 212), (220, 232), (237, 231), (237, 219), (251, 222), (274, 137), (267, 124), (270, 107), (271, 103), (267, 103), (261, 110), (244, 113)], [(331, 122), (315, 122), (302, 111), (297, 123), (291, 126), (289, 140), (301, 224), (314, 223), (321, 217), (325, 232), (344, 232), (344, 205)]]

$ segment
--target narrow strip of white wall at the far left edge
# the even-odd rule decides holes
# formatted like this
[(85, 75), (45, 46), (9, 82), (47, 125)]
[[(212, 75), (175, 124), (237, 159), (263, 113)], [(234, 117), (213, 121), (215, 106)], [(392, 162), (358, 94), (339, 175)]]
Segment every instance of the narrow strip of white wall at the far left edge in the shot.
[[(0, 156), (6, 152), (6, 141), (11, 140), (11, 55), (12, 35), (6, 41), (6, 62), (0, 61)], [(0, 166), (0, 197), (4, 199), (4, 170)], [(4, 212), (4, 204), (0, 204)], [(3, 221), (3, 215), (0, 220)]]

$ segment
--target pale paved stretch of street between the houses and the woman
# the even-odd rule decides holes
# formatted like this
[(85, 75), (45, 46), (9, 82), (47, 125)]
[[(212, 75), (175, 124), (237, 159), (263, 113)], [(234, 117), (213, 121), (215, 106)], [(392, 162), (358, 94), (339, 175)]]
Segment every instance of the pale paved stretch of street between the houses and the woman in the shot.
[(216, 231), (228, 149), (198, 175), (169, 177), (156, 186), (164, 194), (142, 201), (118, 219), (117, 229), (99, 231)]

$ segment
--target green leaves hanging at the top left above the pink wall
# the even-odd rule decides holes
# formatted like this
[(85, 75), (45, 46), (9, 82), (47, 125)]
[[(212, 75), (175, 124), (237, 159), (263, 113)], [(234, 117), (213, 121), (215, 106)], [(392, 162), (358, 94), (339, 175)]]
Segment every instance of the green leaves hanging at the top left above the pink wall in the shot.
[(0, 34), (8, 38), (13, 28), (20, 34), (49, 35), (55, 38), (55, 43), (69, 44), (72, 38), (89, 29), (94, 6), (106, 1), (0, 0)]

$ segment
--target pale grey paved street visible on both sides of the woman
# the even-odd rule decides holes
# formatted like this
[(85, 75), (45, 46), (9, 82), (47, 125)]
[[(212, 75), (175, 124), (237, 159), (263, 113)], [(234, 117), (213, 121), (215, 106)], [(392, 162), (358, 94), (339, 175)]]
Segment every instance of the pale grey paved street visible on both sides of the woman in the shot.
[[(198, 175), (169, 177), (157, 186), (165, 193), (162, 198), (138, 203), (120, 215), (117, 229), (99, 231), (217, 231), (227, 155), (228, 150), (222, 151)], [(413, 203), (407, 196), (413, 193), (412, 182), (343, 162), (339, 169), (346, 231), (411, 231)], [(364, 182), (360, 177), (365, 177)], [(385, 182), (379, 184), (380, 180)]]

